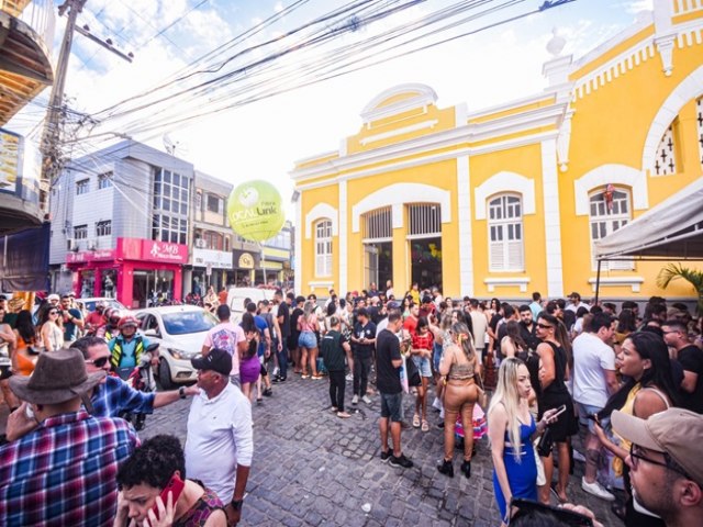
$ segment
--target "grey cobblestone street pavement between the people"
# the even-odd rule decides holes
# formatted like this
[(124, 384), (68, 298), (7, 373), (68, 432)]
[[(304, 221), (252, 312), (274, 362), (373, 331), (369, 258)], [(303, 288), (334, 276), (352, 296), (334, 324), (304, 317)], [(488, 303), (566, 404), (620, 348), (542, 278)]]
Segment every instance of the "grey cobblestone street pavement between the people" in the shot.
[[(403, 451), (415, 467), (397, 469), (379, 458), (378, 396), (370, 406), (360, 402), (352, 418), (339, 419), (328, 411), (327, 386), (326, 378), (290, 375), (254, 407), (254, 464), (241, 525), (499, 525), (487, 438), (480, 441), (471, 479), (458, 471), (458, 451), (449, 479), (435, 468), (442, 430), (403, 430)], [(350, 402), (349, 393), (347, 383)], [(405, 396), (406, 416), (412, 416), (412, 396)], [(189, 406), (190, 401), (179, 401), (157, 410), (141, 436), (169, 433), (185, 439)], [(431, 422), (437, 422), (438, 414), (431, 412)], [(569, 497), (591, 507), (604, 525), (621, 526), (606, 502), (581, 491), (582, 469), (577, 463)]]

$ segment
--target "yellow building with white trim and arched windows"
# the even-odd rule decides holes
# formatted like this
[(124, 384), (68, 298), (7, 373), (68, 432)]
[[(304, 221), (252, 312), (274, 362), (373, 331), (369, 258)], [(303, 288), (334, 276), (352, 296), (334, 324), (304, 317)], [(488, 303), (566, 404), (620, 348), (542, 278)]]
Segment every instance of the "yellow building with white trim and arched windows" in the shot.
[[(593, 242), (702, 177), (703, 7), (657, 1), (581, 58), (562, 47), (542, 93), (468, 113), (398, 86), (339, 150), (299, 161), (295, 289), (590, 295)], [(601, 295), (690, 296), (657, 288), (662, 265), (606, 262)]]

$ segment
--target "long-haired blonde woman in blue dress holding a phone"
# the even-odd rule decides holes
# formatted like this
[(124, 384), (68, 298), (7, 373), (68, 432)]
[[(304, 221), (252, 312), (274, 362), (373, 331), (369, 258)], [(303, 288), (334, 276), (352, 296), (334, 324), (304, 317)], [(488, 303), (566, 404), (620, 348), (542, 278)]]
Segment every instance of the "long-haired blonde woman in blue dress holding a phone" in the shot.
[(503, 525), (513, 497), (537, 501), (537, 466), (532, 439), (557, 418), (548, 410), (539, 423), (529, 413), (529, 371), (514, 357), (503, 360), (488, 411), (488, 434), (493, 457), (493, 491)]

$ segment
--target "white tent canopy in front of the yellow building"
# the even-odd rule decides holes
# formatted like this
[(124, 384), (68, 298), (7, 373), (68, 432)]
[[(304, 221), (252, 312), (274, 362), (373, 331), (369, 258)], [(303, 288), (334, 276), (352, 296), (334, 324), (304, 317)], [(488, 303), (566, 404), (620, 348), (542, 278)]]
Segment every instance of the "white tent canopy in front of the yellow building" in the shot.
[(703, 259), (703, 177), (596, 242), (595, 257)]

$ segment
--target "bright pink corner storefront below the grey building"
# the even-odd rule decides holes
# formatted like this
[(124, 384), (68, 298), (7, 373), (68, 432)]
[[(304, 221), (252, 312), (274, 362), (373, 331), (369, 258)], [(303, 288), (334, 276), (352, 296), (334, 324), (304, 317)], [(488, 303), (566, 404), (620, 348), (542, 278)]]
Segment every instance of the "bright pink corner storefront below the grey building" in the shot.
[(181, 300), (182, 266), (188, 246), (141, 238), (118, 238), (114, 249), (69, 253), (79, 298), (116, 298), (130, 309), (154, 301)]

